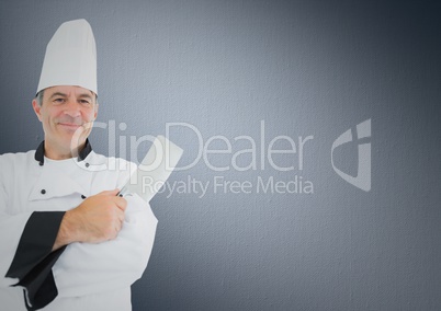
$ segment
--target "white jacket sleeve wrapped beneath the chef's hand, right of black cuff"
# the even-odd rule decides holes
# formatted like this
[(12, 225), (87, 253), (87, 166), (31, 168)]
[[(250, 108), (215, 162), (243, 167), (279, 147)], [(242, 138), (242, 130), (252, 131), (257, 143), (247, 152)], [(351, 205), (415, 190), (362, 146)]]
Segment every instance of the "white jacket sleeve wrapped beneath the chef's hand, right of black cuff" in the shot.
[(115, 240), (71, 243), (54, 265), (59, 297), (131, 286), (142, 277), (154, 245), (157, 219), (139, 196), (127, 196), (126, 219)]

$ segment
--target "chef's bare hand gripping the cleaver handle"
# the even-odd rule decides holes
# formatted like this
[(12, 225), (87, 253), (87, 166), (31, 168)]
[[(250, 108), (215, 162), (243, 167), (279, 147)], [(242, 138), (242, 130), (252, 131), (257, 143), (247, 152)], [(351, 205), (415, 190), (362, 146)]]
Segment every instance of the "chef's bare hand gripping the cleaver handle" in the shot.
[(127, 206), (117, 193), (118, 189), (99, 193), (66, 211), (53, 250), (72, 242), (100, 243), (115, 239)]

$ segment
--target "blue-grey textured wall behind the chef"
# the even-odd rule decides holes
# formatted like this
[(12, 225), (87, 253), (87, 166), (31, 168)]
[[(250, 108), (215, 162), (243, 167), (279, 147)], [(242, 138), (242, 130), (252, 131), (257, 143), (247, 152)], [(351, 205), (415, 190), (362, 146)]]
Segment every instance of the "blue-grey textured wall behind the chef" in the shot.
[[(213, 172), (200, 161), (173, 173), (301, 175), (314, 194), (158, 195), (134, 310), (440, 310), (440, 1), (0, 1), (0, 153), (42, 140), (31, 101), (45, 46), (59, 24), (84, 18), (98, 45), (99, 120), (126, 123), (117, 135), (185, 122), (205, 141), (259, 141), (262, 119), (268, 140), (314, 135), (303, 171)], [(365, 193), (333, 172), (330, 148), (369, 118)], [(190, 163), (195, 136), (181, 129), (171, 139)], [(109, 153), (104, 130), (91, 140)], [(357, 145), (336, 164), (355, 175)]]

